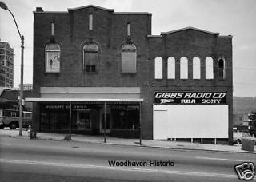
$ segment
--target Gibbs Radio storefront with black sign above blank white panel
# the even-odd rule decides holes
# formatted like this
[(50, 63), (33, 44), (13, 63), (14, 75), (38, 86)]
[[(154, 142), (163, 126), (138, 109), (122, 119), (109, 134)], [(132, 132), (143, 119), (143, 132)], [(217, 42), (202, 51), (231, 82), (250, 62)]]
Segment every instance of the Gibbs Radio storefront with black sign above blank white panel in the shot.
[(153, 137), (228, 139), (226, 92), (154, 92)]

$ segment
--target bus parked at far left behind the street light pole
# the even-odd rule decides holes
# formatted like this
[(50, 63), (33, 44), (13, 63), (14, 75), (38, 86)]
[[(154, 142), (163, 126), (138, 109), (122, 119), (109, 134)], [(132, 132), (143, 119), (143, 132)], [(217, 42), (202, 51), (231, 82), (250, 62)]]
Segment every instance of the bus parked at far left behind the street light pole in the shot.
[[(32, 112), (23, 111), (22, 127), (27, 127), (32, 124)], [(19, 110), (0, 109), (0, 129), (9, 127), (16, 129), (19, 127)]]

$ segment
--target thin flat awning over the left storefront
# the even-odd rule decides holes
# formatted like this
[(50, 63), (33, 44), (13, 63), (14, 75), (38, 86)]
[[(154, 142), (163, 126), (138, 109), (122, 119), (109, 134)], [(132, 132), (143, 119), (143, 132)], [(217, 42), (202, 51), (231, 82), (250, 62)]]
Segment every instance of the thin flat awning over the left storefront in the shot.
[(27, 102), (142, 102), (142, 98), (25, 98)]

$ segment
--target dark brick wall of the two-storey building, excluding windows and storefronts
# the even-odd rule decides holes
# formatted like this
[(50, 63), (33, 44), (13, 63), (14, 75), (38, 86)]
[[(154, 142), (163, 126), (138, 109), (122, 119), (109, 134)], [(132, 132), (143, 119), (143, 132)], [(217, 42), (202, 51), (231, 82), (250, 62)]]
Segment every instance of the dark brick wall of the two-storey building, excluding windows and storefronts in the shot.
[[(93, 14), (93, 30), (89, 30), (89, 14)], [(54, 21), (54, 40), (61, 47), (60, 73), (45, 73), (46, 44), (50, 42), (50, 26)], [(131, 42), (137, 48), (137, 73), (121, 73), (121, 47), (126, 44), (126, 25), (131, 24)], [(142, 90), (142, 137), (153, 136), (154, 90), (226, 91), (232, 128), (232, 42), (194, 28), (151, 34), (151, 14), (114, 13), (95, 6), (68, 12), (34, 12), (34, 97), (42, 86), (140, 86)], [(82, 49), (93, 40), (99, 48), (98, 73), (82, 69)], [(189, 78), (179, 79), (179, 59), (187, 57)], [(205, 58), (214, 59), (214, 79), (205, 79)], [(163, 79), (154, 79), (154, 58), (162, 57)], [(167, 79), (167, 59), (176, 59), (176, 79)], [(201, 59), (201, 79), (192, 79), (192, 59)], [(226, 61), (226, 79), (218, 79), (218, 57)], [(37, 105), (38, 108), (38, 105)], [(39, 109), (37, 109), (39, 112)], [(231, 130), (230, 130), (231, 134)]]

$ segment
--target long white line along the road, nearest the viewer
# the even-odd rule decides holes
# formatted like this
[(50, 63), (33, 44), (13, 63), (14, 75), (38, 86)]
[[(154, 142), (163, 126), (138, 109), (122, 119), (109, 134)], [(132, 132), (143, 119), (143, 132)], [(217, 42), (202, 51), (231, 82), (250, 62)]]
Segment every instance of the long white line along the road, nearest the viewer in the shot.
[(211, 176), (211, 177), (224, 177), (224, 178), (237, 178), (236, 175), (230, 174), (219, 174), (219, 173), (207, 173), (207, 172), (186, 172), (186, 171), (173, 171), (173, 170), (162, 170), (162, 169), (149, 169), (149, 168), (128, 168), (128, 167), (110, 167), (101, 165), (90, 165), (90, 164), (67, 164), (67, 163), (54, 163), (54, 162), (43, 162), (34, 160), (8, 160), (0, 159), (2, 163), (14, 163), (14, 164), (35, 164), (35, 165), (49, 165), (55, 167), (71, 167), (71, 168), (94, 168), (102, 170), (115, 170), (115, 171), (128, 171), (128, 172), (150, 172), (150, 173), (165, 173), (165, 174), (176, 174), (176, 175), (187, 175), (187, 176)]

